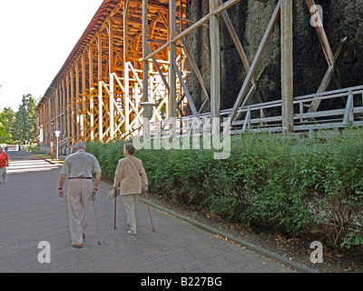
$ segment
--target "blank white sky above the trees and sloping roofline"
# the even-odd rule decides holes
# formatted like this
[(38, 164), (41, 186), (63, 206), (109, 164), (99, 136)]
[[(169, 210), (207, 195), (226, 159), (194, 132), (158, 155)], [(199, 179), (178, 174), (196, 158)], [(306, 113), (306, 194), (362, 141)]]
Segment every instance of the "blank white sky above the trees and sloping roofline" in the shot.
[(103, 0), (0, 0), (0, 112), (44, 95)]

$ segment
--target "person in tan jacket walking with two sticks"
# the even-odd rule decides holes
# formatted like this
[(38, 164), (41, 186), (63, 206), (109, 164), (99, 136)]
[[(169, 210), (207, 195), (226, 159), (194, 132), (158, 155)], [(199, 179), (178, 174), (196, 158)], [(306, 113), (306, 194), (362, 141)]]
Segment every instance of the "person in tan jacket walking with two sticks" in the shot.
[(119, 160), (114, 173), (113, 189), (120, 186), (120, 196), (127, 214), (127, 224), (130, 226), (128, 233), (132, 236), (137, 235), (135, 206), (141, 193), (146, 193), (148, 179), (142, 160), (133, 156), (135, 148), (132, 144), (123, 146), (123, 156)]

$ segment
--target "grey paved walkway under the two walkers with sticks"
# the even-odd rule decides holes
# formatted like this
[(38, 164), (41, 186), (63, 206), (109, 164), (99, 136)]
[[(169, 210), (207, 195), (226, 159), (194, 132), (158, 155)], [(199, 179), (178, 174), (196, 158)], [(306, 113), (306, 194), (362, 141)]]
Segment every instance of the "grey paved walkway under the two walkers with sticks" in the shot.
[[(122, 200), (117, 200), (117, 229), (108, 187), (96, 204), (101, 245), (97, 244), (93, 205), (83, 248), (71, 246), (66, 198), (57, 196), (59, 167), (37, 156), (9, 151), (7, 182), (0, 185), (0, 272), (128, 273), (281, 273), (287, 266), (151, 207), (137, 208), (138, 236), (127, 234)], [(50, 263), (38, 255), (50, 244)], [(45, 257), (45, 256), (43, 256)]]

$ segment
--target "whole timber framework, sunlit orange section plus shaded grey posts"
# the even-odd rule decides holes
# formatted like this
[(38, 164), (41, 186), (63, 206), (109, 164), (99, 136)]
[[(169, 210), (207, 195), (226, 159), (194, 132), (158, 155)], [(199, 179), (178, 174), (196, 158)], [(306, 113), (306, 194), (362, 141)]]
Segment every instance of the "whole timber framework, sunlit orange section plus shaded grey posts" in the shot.
[[(251, 63), (227, 12), (239, 2), (209, 0), (210, 12), (192, 22), (186, 16), (187, 0), (104, 0), (37, 106), (39, 145), (51, 145), (56, 131), (61, 132), (61, 146), (66, 147), (72, 147), (80, 139), (107, 142), (145, 133), (149, 120), (143, 116), (142, 102), (146, 101), (155, 104), (152, 122), (181, 117), (185, 106), (189, 106), (193, 117), (199, 118), (206, 103), (210, 104), (210, 117), (220, 117), (221, 21), (227, 25), (247, 74), (229, 111), (225, 129), (231, 128), (257, 89), (254, 74), (280, 20), (281, 131), (292, 131), (296, 117), (292, 78), (293, 1), (276, 1)], [(306, 4), (311, 16), (319, 17), (314, 0), (306, 0)], [(185, 43), (185, 37), (201, 26), (210, 30), (211, 87), (208, 89)], [(328, 62), (327, 73), (317, 92), (320, 94), (332, 79), (341, 48), (333, 55), (324, 27), (316, 25), (315, 28)], [(184, 65), (186, 58), (202, 88), (201, 108), (194, 105), (184, 82), (188, 73)], [(317, 111), (319, 102), (315, 99), (310, 102), (309, 113)], [(249, 116), (245, 118), (249, 119)]]

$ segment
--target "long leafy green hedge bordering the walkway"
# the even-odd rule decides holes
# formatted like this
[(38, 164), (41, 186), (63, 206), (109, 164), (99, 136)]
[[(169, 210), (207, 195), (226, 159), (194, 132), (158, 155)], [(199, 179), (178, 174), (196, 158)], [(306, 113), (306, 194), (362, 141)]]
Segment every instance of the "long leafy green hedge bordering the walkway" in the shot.
[[(89, 143), (113, 180), (123, 142)], [(335, 246), (363, 245), (363, 131), (328, 139), (284, 135), (232, 138), (231, 156), (214, 159), (211, 150), (137, 150), (159, 195), (208, 207), (243, 224), (270, 224), (290, 235), (326, 227)]]

